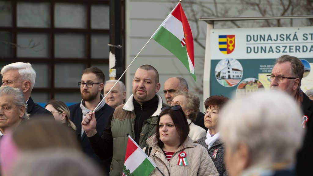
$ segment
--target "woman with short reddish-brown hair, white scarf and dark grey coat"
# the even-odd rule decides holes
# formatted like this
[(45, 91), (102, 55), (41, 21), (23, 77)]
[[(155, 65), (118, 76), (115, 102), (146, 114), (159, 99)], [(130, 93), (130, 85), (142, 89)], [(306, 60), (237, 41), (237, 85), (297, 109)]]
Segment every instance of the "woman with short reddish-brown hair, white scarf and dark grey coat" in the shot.
[(204, 102), (204, 125), (208, 128), (207, 135), (198, 140), (205, 147), (220, 176), (227, 175), (224, 167), (224, 146), (218, 132), (219, 111), (229, 99), (224, 96), (210, 96)]

